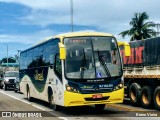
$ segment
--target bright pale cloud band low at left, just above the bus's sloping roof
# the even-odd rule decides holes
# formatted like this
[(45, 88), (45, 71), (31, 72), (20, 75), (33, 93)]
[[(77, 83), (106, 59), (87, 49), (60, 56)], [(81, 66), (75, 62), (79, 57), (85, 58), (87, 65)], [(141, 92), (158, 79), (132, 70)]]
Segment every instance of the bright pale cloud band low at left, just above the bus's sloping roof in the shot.
[(50, 36), (54, 36), (57, 32), (45, 29), (34, 32), (32, 34), (0, 34), (0, 58), (6, 56), (6, 45), (8, 45), (9, 56), (17, 54), (17, 50), (25, 50), (35, 45), (41, 40), (44, 40)]

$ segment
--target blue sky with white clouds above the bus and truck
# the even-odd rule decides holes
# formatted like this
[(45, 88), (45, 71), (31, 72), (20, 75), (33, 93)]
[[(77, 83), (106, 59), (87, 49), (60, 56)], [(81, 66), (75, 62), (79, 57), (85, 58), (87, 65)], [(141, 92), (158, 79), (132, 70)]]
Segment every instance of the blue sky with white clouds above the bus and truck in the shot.
[[(14, 57), (40, 40), (71, 32), (71, 0), (0, 0), (0, 59)], [(160, 23), (160, 0), (72, 0), (74, 31), (113, 34), (130, 28), (136, 12), (147, 12)]]

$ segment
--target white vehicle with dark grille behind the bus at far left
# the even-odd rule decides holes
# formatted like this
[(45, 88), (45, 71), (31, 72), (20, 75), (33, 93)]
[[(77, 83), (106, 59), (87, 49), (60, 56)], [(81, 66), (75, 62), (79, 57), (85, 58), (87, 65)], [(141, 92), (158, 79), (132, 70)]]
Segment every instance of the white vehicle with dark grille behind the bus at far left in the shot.
[(7, 90), (8, 87), (15, 88), (15, 79), (19, 76), (18, 71), (6, 71), (3, 77), (3, 89)]

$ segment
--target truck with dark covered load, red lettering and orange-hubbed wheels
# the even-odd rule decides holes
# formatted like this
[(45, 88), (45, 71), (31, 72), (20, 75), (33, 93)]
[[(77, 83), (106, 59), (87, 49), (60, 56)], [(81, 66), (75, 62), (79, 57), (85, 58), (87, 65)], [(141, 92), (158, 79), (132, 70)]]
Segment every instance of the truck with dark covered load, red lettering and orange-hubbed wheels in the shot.
[(160, 37), (130, 42), (123, 59), (125, 97), (132, 105), (160, 110)]

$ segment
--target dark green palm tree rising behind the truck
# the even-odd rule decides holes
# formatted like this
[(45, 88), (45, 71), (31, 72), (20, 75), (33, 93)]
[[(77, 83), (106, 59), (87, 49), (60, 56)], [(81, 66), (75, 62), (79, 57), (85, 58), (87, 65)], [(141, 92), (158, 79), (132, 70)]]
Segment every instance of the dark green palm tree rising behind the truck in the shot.
[(132, 28), (121, 32), (119, 35), (122, 35), (122, 37), (126, 35), (131, 36), (130, 41), (143, 40), (156, 36), (156, 31), (153, 29), (155, 24), (153, 22), (145, 22), (147, 19), (149, 19), (149, 16), (146, 12), (135, 13), (130, 22)]

